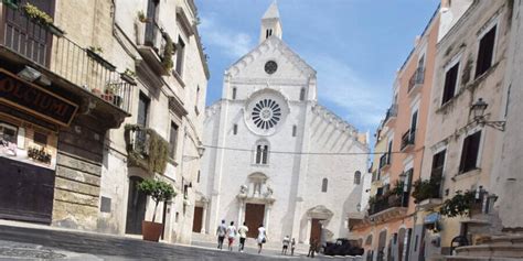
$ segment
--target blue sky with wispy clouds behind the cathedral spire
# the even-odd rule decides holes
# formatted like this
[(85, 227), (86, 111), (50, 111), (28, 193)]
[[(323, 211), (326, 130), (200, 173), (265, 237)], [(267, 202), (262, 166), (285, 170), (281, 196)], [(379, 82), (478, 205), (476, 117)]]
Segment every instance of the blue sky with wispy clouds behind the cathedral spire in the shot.
[[(196, 0), (209, 54), (206, 104), (223, 73), (258, 43), (273, 0)], [(318, 72), (319, 102), (374, 133), (392, 100), (396, 70), (440, 0), (278, 0), (284, 41)]]

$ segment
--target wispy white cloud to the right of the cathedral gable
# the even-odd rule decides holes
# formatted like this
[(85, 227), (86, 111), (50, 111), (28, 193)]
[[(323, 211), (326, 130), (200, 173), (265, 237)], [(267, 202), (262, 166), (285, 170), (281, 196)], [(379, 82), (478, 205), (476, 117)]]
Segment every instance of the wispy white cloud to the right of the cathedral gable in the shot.
[(348, 64), (331, 56), (310, 56), (318, 72), (320, 99), (332, 102), (344, 111), (340, 116), (361, 131), (374, 129), (383, 118), (388, 101), (388, 91), (363, 80)]

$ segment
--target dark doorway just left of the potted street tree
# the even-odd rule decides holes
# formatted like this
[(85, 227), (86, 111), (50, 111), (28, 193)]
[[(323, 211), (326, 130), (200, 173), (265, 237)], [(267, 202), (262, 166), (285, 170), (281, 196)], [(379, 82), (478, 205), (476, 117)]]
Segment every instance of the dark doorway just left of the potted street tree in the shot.
[(141, 221), (146, 218), (147, 196), (137, 188), (143, 181), (139, 176), (129, 177), (129, 196), (127, 198), (126, 233), (141, 235)]

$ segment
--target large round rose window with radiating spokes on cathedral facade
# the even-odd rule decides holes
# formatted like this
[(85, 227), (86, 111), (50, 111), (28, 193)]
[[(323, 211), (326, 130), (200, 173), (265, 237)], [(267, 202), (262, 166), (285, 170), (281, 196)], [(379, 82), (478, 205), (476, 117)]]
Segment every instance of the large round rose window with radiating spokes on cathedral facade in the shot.
[(253, 108), (253, 121), (259, 129), (268, 130), (281, 119), (281, 109), (273, 99), (263, 99)]

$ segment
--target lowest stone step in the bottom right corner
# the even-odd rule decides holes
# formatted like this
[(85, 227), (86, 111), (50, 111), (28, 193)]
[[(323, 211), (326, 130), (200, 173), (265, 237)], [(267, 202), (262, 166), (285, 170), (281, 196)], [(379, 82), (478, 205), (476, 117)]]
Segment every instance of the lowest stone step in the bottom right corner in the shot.
[(491, 258), (520, 258), (523, 259), (523, 247), (512, 244), (479, 244), (456, 249), (460, 257), (491, 257)]

